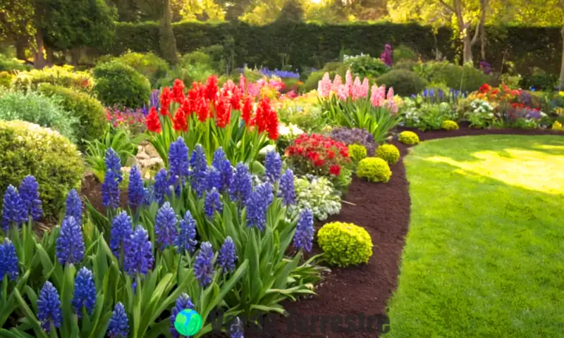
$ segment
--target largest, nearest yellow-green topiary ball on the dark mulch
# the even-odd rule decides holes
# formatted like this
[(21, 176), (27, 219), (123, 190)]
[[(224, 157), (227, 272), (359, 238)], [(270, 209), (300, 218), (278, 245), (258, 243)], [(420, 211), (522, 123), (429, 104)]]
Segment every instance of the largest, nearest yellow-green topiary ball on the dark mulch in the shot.
[(317, 243), (326, 260), (337, 266), (368, 263), (372, 256), (370, 234), (352, 223), (327, 223), (317, 232)]

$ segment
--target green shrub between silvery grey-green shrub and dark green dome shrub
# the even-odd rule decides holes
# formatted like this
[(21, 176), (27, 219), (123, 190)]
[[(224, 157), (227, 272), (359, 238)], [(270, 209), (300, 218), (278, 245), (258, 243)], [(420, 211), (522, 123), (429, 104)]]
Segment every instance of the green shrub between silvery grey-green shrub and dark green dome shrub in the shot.
[(48, 83), (39, 86), (39, 92), (60, 99), (59, 105), (78, 118), (79, 124), (75, 128), (75, 135), (79, 142), (102, 137), (108, 120), (100, 101), (88, 94)]

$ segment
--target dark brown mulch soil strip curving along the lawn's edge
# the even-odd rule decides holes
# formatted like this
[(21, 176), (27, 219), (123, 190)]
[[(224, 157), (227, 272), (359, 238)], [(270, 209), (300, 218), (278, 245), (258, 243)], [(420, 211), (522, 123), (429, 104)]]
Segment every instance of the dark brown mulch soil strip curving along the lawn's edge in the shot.
[[(483, 134), (564, 136), (563, 132), (551, 130), (472, 130), (464, 126), (448, 132), (398, 128), (398, 131), (402, 130), (417, 132), (422, 141)], [(386, 317), (386, 304), (397, 287), (400, 257), (410, 220), (410, 196), (403, 165), (408, 147), (397, 140), (392, 143), (398, 146), (402, 158), (391, 166), (391, 180), (387, 184), (369, 183), (355, 177), (348, 194), (343, 197), (345, 202), (341, 213), (325, 221), (342, 221), (364, 227), (374, 244), (369, 263), (333, 268), (316, 285), (317, 296), (302, 297), (295, 302), (285, 301), (283, 306), (288, 311), (287, 316), (265, 315), (258, 318), (262, 329), (247, 326), (245, 337), (360, 338), (378, 337), (382, 330), (386, 332), (388, 324), (393, 330), (393, 323), (389, 323)], [(94, 207), (103, 210), (99, 182), (90, 178), (85, 183), (82, 195)], [(124, 192), (122, 202), (125, 199)], [(320, 252), (317, 244), (314, 244), (314, 252)], [(217, 333), (207, 337), (227, 336)]]

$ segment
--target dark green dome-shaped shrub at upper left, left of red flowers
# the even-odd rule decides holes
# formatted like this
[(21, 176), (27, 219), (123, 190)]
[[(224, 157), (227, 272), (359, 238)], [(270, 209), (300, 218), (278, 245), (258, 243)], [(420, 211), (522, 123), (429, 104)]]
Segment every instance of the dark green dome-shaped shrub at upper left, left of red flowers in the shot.
[(94, 92), (106, 106), (140, 108), (149, 101), (149, 80), (129, 65), (102, 63), (94, 68), (94, 79)]

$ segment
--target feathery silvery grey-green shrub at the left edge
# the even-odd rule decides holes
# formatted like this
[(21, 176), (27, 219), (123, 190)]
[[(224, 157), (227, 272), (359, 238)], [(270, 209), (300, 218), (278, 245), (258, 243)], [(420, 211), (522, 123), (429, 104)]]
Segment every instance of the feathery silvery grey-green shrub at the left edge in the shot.
[(0, 120), (23, 120), (48, 127), (64, 137), (76, 140), (78, 119), (61, 108), (60, 99), (37, 92), (6, 91), (0, 94)]

